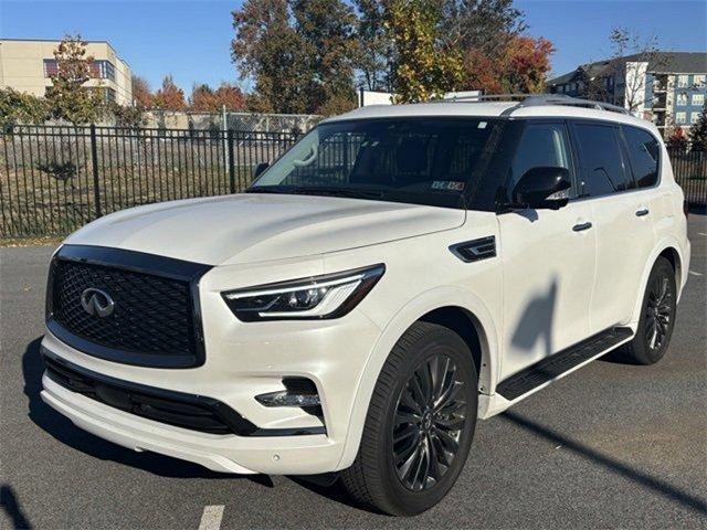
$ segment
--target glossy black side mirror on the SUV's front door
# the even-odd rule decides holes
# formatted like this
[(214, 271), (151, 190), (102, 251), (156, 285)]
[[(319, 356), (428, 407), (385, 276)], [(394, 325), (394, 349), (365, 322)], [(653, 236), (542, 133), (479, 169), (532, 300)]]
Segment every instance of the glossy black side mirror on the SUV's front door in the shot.
[[(558, 210), (567, 205), (566, 193), (572, 187), (567, 168), (538, 167), (530, 168), (516, 183), (513, 201), (535, 210)], [(558, 194), (559, 197), (552, 197)]]

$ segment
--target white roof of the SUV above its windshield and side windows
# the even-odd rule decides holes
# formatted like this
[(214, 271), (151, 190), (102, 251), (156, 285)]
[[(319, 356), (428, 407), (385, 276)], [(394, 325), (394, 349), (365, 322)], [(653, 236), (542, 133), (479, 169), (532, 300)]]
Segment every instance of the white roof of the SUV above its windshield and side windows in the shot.
[[(516, 107), (513, 113), (510, 109)], [(519, 106), (518, 102), (433, 102), (412, 105), (369, 105), (351, 110), (340, 116), (333, 116), (323, 123), (334, 123), (346, 119), (374, 118), (412, 118), (412, 117), (595, 117), (609, 121), (636, 125), (654, 129), (655, 126), (645, 119), (597, 108), (577, 107), (570, 105), (532, 105)]]

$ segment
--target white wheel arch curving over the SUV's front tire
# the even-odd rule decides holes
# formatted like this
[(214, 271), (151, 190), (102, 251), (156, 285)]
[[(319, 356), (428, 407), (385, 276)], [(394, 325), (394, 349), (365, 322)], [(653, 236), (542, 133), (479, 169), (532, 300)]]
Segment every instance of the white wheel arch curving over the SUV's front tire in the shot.
[[(443, 322), (444, 317), (453, 320)], [(472, 292), (463, 287), (442, 286), (425, 292), (400, 309), (384, 326), (380, 338), (372, 348), (366, 368), (358, 383), (354, 406), (349, 418), (346, 442), (337, 469), (349, 467), (360, 445), (368, 406), (381, 369), (400, 337), (419, 320), (441, 324), (458, 332), (465, 325), (472, 326), (472, 333), (460, 333), (469, 346), (479, 347), (474, 359), (478, 365), (478, 388), (484, 393), (493, 392), (498, 371), (498, 335), (492, 312)], [(456, 329), (455, 329), (456, 327)], [(471, 348), (469, 348), (471, 349)], [(474, 356), (474, 350), (472, 350)]]

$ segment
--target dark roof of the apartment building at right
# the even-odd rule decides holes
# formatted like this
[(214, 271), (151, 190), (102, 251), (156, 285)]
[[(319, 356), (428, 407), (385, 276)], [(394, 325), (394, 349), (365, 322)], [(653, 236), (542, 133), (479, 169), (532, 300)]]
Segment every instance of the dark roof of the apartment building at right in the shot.
[[(647, 55), (647, 56), (646, 56)], [(581, 64), (572, 72), (550, 80), (548, 85), (569, 83), (580, 74), (589, 78), (601, 77), (611, 71), (616, 61), (648, 61), (648, 72), (658, 74), (704, 74), (707, 73), (707, 52), (656, 52), (651, 54), (635, 53), (618, 59), (605, 59), (594, 63)]]

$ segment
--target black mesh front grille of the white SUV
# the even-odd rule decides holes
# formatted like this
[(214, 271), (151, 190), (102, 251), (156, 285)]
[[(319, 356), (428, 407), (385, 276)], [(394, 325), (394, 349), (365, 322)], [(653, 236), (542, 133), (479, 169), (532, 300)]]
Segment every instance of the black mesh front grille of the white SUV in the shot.
[[(67, 247), (65, 247), (67, 248)], [(169, 258), (157, 259), (155, 273), (146, 272), (147, 254), (104, 250), (102, 259), (76, 258), (86, 248), (60, 252), (52, 264), (48, 327), (60, 339), (86, 353), (140, 365), (186, 368), (199, 363), (202, 347), (192, 296), (192, 277), (162, 275)], [(125, 256), (141, 268), (126, 267)], [(106, 257), (116, 258), (117, 264)], [(179, 262), (183, 268), (183, 264)], [(189, 264), (194, 267), (197, 264)], [(113, 312), (98, 316), (82, 305), (86, 289), (99, 289), (114, 301)]]

